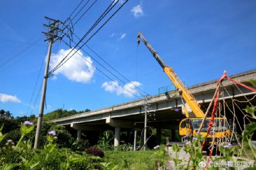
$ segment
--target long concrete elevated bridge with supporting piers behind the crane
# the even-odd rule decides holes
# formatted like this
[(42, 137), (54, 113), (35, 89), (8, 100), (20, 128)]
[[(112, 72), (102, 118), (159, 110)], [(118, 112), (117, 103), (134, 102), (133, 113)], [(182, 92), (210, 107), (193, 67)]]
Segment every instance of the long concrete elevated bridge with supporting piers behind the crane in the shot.
[[(232, 79), (248, 84), (249, 80), (256, 78), (256, 70), (251, 70), (244, 73), (239, 73), (230, 76)], [(202, 106), (203, 111), (207, 109), (209, 102), (216, 90), (218, 80), (196, 84), (188, 87), (189, 91), (196, 98), (198, 103)], [(220, 100), (229, 102), (232, 98), (242, 99), (245, 97), (252, 98), (256, 93), (246, 88), (238, 86), (234, 82), (223, 81), (223, 96)], [(256, 98), (252, 100), (256, 103)], [(157, 143), (161, 138), (161, 129), (172, 130), (172, 138), (175, 138), (175, 130), (179, 130), (179, 122), (184, 116), (182, 100), (177, 91), (170, 91), (160, 95), (155, 95), (149, 98), (150, 111), (148, 114), (148, 126), (156, 128)], [(120, 144), (120, 132), (127, 132), (127, 134), (136, 134), (136, 130), (144, 127), (145, 119), (145, 100), (134, 100), (124, 104), (113, 105), (91, 112), (84, 112), (74, 116), (68, 116), (53, 120), (58, 125), (65, 125), (68, 130), (77, 135), (77, 139), (81, 138), (81, 134), (86, 132), (93, 132), (94, 137), (102, 134), (105, 130), (115, 131), (115, 146)], [(186, 105), (189, 110), (189, 106)], [(239, 107), (245, 108), (246, 103), (239, 103)], [(191, 111), (190, 111), (191, 112)], [(239, 112), (239, 110), (237, 111)], [(238, 114), (238, 113), (237, 113)], [(232, 114), (227, 114), (227, 118), (232, 121)], [(242, 118), (242, 117), (241, 117)], [(83, 132), (83, 133), (82, 133)], [(92, 133), (91, 133), (92, 134)], [(96, 135), (95, 135), (96, 134)], [(129, 137), (131, 142), (131, 137)]]

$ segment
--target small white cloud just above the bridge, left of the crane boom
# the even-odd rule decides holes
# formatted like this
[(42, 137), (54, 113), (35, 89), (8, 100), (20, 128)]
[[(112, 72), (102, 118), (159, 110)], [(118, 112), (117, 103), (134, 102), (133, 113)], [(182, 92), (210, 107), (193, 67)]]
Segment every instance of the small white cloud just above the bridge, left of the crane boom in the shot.
[(138, 91), (136, 87), (140, 86), (141, 83), (137, 81), (132, 81), (124, 85), (124, 88), (118, 85), (117, 81), (104, 82), (102, 84), (102, 88), (105, 91), (109, 91), (110, 93), (116, 93), (116, 95), (124, 95), (125, 97), (135, 97), (138, 95)]

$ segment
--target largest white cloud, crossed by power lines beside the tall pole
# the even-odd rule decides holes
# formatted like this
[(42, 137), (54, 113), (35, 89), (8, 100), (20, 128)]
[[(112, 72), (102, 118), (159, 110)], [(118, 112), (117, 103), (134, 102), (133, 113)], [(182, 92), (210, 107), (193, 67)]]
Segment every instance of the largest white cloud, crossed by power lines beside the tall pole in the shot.
[[(65, 56), (67, 56), (71, 50), (72, 49), (61, 49), (58, 54), (52, 54), (50, 68), (52, 69), (54, 66), (58, 65), (58, 63), (60, 63), (60, 61), (65, 58)], [(75, 52), (76, 54), (74, 54)], [(72, 54), (74, 54), (74, 56), (72, 56)], [(72, 58), (70, 58), (66, 63), (64, 63), (64, 65), (56, 70), (56, 72), (54, 72), (55, 75), (60, 73), (71, 81), (83, 83), (90, 82), (95, 72), (95, 68), (90, 64), (93, 63), (93, 61), (90, 57), (84, 57), (87, 61), (90, 62), (88, 63), (85, 59), (81, 58), (79, 54), (83, 56), (82, 52), (80, 50), (77, 51), (76, 49), (68, 54), (68, 57), (65, 59), (65, 61), (67, 61), (69, 56), (72, 56)], [(56, 77), (54, 77), (54, 79), (56, 79)]]

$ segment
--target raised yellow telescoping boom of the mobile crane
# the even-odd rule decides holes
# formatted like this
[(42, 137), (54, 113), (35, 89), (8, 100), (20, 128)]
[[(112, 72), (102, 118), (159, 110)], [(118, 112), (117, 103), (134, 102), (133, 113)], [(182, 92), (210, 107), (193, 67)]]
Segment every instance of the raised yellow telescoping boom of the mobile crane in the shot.
[[(172, 81), (172, 83), (174, 84), (175, 88), (178, 89), (178, 91), (179, 91), (180, 95), (182, 96), (182, 98), (184, 98), (184, 100), (187, 102), (187, 104), (189, 105), (189, 107), (191, 108), (193, 113), (195, 114), (195, 115), (188, 115), (188, 113), (186, 113), (186, 117), (187, 118), (188, 117), (189, 118), (191, 118), (191, 117), (203, 118), (204, 117), (204, 112), (200, 108), (200, 105), (195, 100), (193, 95), (191, 95), (191, 93), (188, 91), (186, 86), (184, 86), (183, 82), (180, 81), (179, 77), (176, 75), (176, 73), (174, 72), (173, 68), (170, 67), (170, 66), (166, 66), (164, 61), (159, 56), (159, 54), (157, 54), (157, 52), (151, 47), (150, 43), (147, 42), (147, 40), (145, 39), (145, 37), (141, 33), (138, 34), (138, 38), (141, 38), (141, 40), (145, 43), (146, 47), (150, 50), (150, 52), (152, 53), (154, 58), (157, 60), (159, 65), (163, 68), (163, 71), (166, 73), (166, 75)], [(140, 43), (140, 40), (138, 40), (138, 43)]]

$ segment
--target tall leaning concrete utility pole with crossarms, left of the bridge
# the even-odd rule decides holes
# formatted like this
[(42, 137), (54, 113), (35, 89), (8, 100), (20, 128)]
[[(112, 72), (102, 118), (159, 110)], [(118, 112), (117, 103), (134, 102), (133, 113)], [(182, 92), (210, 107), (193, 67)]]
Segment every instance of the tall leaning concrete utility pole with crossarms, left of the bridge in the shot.
[(43, 33), (47, 37), (47, 40), (45, 41), (48, 41), (49, 47), (48, 47), (47, 60), (46, 60), (46, 66), (45, 66), (45, 72), (44, 72), (44, 82), (42, 86), (41, 102), (40, 102), (39, 116), (38, 116), (37, 127), (36, 127), (34, 148), (39, 147), (42, 120), (44, 115), (45, 93), (46, 93), (46, 86), (47, 86), (49, 63), (51, 58), (52, 43), (54, 43), (55, 40), (59, 39), (58, 31), (60, 31), (60, 29), (58, 28), (58, 26), (61, 23), (59, 20), (49, 19), (48, 17), (45, 17), (45, 19), (49, 20), (49, 25), (44, 24), (45, 27), (48, 27), (48, 33), (44, 33), (44, 32)]

